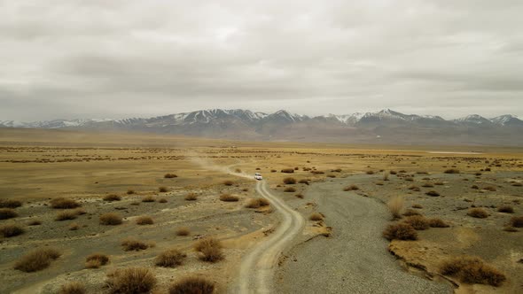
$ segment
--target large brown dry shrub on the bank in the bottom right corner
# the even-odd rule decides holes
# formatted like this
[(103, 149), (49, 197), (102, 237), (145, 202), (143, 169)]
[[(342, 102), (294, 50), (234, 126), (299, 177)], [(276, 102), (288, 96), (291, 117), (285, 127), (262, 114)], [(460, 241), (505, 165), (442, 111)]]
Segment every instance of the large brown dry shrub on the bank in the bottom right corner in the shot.
[(441, 275), (457, 277), (465, 283), (481, 283), (500, 286), (506, 277), (495, 267), (484, 263), (478, 257), (460, 256), (448, 259), (441, 264)]

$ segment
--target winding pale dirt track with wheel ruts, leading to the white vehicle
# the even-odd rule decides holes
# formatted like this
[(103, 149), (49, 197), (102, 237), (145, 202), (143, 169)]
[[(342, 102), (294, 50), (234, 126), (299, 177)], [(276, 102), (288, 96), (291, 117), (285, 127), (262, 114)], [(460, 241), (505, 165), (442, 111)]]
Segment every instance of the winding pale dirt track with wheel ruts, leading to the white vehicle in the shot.
[(265, 181), (257, 182), (256, 190), (281, 214), (281, 223), (274, 233), (246, 254), (240, 265), (238, 289), (234, 290), (235, 293), (274, 292), (273, 277), (279, 255), (301, 233), (305, 224), (300, 213), (269, 192)]

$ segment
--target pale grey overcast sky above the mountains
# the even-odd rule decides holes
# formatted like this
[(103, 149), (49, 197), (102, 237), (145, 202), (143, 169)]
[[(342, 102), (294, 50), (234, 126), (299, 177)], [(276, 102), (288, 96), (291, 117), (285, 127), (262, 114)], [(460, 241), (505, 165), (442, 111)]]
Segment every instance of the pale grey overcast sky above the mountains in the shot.
[(523, 117), (523, 1), (0, 0), (0, 120)]

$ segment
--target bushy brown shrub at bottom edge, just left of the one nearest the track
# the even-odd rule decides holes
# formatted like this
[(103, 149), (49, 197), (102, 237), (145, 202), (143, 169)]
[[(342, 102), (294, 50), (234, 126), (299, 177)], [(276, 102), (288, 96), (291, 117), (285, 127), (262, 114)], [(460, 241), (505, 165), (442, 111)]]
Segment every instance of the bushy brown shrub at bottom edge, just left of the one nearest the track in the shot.
[(107, 275), (109, 293), (149, 293), (156, 285), (156, 277), (146, 267), (127, 267)]

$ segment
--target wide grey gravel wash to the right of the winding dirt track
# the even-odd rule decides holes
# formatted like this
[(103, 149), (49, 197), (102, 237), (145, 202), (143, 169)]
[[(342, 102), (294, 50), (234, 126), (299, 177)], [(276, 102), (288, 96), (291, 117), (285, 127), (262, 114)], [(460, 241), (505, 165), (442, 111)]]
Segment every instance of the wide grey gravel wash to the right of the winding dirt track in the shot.
[(308, 201), (316, 200), (333, 236), (294, 247), (277, 273), (276, 292), (452, 293), (447, 283), (405, 271), (386, 251), (387, 242), (381, 237), (389, 218), (386, 206), (342, 191), (339, 181), (344, 180), (313, 184), (307, 190)]

